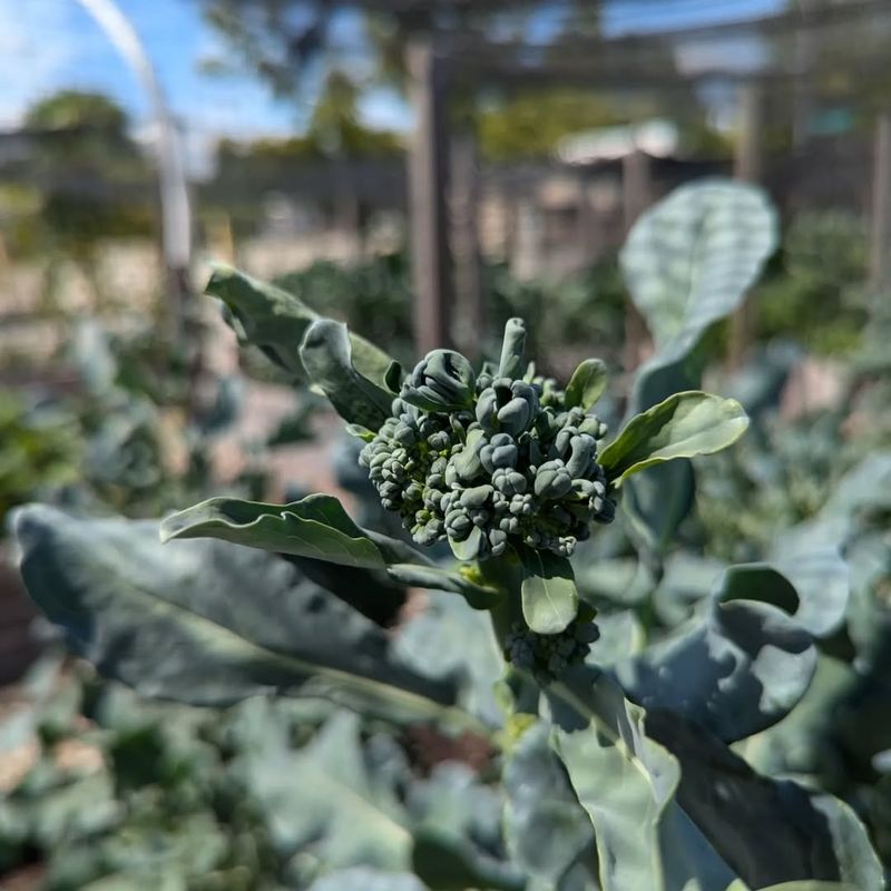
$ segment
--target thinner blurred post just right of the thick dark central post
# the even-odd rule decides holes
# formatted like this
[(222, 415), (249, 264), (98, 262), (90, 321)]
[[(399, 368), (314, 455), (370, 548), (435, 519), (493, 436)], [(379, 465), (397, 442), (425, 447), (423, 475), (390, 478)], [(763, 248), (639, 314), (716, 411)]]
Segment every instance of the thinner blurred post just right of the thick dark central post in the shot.
[(452, 253), (456, 282), (456, 341), (468, 359), (482, 354), (486, 307), (479, 246), (479, 157), (477, 137), (468, 127), (452, 140)]

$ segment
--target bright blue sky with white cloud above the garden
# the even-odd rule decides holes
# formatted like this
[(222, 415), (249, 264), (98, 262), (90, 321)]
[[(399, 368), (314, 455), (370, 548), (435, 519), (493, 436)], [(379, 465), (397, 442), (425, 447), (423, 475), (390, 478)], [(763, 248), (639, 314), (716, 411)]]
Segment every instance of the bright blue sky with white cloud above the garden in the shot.
[[(198, 0), (118, 3), (153, 58), (174, 111), (187, 121), (196, 155), (221, 135), (247, 139), (300, 128), (312, 104), (312, 81), (295, 104), (276, 101), (264, 84), (247, 76), (202, 74), (199, 60), (223, 56), (224, 46), (202, 20)], [(609, 32), (620, 33), (766, 14), (781, 6), (782, 0), (614, 0), (604, 21)], [(551, 27), (541, 17), (530, 30), (545, 39)], [(350, 17), (339, 30), (353, 41), (360, 33)], [(0, 0), (0, 128), (14, 126), (29, 104), (60, 88), (106, 92), (137, 126), (147, 114), (133, 75), (76, 0)], [(362, 111), (376, 126), (409, 123), (398, 97), (382, 90), (366, 97)]]

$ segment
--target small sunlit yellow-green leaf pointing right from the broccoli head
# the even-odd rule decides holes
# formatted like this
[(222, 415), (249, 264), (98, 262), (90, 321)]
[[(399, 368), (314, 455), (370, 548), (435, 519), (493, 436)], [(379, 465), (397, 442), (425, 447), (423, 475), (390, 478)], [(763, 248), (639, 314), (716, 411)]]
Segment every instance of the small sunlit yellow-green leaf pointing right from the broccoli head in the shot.
[(664, 461), (726, 449), (747, 427), (742, 405), (733, 399), (695, 390), (675, 393), (631, 418), (599, 460), (607, 477), (618, 484)]

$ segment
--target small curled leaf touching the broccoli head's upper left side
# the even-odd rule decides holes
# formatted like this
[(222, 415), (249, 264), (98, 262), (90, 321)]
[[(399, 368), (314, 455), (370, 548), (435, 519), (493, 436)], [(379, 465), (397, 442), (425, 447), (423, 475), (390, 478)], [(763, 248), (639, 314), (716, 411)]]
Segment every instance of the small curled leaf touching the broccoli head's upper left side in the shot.
[(337, 414), (350, 423), (380, 430), (390, 417), (393, 395), (355, 368), (352, 352), (346, 325), (331, 319), (313, 322), (300, 346), (306, 375)]

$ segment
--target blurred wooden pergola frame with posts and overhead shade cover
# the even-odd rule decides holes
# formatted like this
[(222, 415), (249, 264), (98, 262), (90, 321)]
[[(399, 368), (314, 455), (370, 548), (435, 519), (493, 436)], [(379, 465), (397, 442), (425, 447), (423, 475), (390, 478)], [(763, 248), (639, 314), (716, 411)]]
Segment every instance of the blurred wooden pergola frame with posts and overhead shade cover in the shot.
[[(830, 47), (836, 62), (841, 57), (849, 95), (856, 94), (864, 85), (878, 87), (872, 278), (877, 288), (891, 284), (891, 4), (887, 0), (848, 0), (820, 7), (802, 0), (789, 11), (771, 17), (615, 39), (577, 33), (541, 45), (492, 40), (484, 31), (471, 27), (437, 27), (437, 12), (446, 8), (480, 9), (479, 4), (460, 0), (451, 3), (368, 0), (359, 4), (404, 14), (404, 22), (410, 25), (407, 69), (415, 111), (409, 180), (410, 228), (420, 353), (449, 341), (456, 272), (462, 281), (460, 311), (471, 320), (481, 315), (480, 307), (474, 305), (479, 295), (469, 286), (473, 276), (466, 268), (472, 263), (469, 249), (472, 235), (461, 234), (460, 226), (454, 232), (454, 221), (450, 221), (448, 212), (450, 202), (460, 208), (462, 199), (466, 204), (474, 194), (469, 182), (474, 172), (473, 150), (468, 134), (450, 138), (447, 114), (451, 90), (480, 85), (506, 88), (571, 85), (657, 96), (670, 90), (724, 85), (734, 89), (737, 97), (735, 175), (756, 183), (764, 172), (765, 98), (779, 89), (794, 91), (793, 129), (796, 146), (801, 148), (806, 139), (802, 121), (806, 124), (811, 88), (822, 75), (819, 50)], [(852, 39), (863, 33), (872, 39), (865, 42)], [(732, 53), (687, 70), (677, 63), (678, 51), (684, 47), (741, 39), (761, 41), (772, 46), (774, 52), (768, 53), (770, 58), (743, 66), (734, 62)], [(646, 158), (629, 155), (624, 173), (626, 225), (630, 225), (649, 202)], [(459, 216), (459, 223), (470, 225), (468, 214)], [(452, 257), (456, 246), (460, 251), (457, 271)]]

